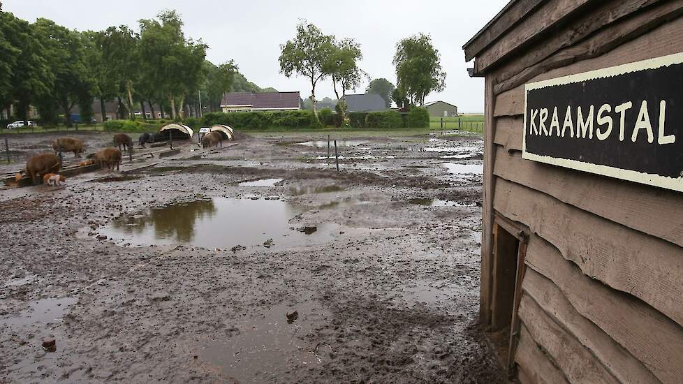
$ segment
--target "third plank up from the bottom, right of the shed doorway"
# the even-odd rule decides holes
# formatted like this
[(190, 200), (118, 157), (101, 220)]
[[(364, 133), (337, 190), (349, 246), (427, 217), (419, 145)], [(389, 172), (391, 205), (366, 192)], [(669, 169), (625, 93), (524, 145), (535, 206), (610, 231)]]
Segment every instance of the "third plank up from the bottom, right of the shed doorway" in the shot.
[[(568, 261), (565, 263), (569, 263)], [(659, 383), (645, 365), (572, 307), (559, 288), (529, 268), (522, 283), (531, 297), (559, 326), (573, 334), (622, 383)]]

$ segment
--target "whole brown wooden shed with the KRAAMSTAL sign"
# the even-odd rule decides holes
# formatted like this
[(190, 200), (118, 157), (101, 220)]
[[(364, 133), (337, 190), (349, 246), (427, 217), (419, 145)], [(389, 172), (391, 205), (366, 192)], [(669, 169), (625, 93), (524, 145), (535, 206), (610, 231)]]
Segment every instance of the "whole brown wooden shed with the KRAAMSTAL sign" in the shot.
[(683, 377), (683, 1), (513, 0), (485, 77), (480, 324), (521, 383)]

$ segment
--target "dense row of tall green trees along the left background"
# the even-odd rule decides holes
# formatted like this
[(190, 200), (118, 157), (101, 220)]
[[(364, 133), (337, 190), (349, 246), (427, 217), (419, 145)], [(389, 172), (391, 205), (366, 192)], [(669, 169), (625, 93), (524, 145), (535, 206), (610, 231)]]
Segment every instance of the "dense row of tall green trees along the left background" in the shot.
[[(16, 108), (27, 120), (30, 106), (44, 124), (58, 115), (71, 126), (71, 111), (82, 119), (93, 114), (95, 98), (105, 116), (105, 101), (117, 101), (120, 118), (135, 119), (139, 105), (182, 119), (199, 115), (199, 105), (219, 110), (227, 91), (260, 91), (230, 60), (214, 65), (205, 59), (207, 45), (184, 35), (175, 10), (103, 31), (75, 31), (52, 20), (34, 23), (0, 10), (0, 109)], [(155, 111), (158, 105), (161, 111)]]

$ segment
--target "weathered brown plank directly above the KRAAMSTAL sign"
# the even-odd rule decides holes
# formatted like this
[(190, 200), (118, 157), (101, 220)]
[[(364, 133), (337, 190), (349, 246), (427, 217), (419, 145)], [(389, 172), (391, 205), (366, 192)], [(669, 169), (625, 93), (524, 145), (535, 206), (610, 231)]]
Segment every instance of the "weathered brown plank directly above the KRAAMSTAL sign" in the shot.
[[(683, 17), (680, 17), (683, 12), (681, 10), (682, 4), (682, 0), (676, 0), (666, 7), (653, 8), (638, 18), (625, 22), (622, 27), (619, 27), (622, 29), (626, 28), (620, 32), (624, 34), (624, 38), (619, 40), (613, 40), (614, 36), (612, 36), (617, 31), (607, 33), (602, 38), (610, 39), (610, 43), (605, 43), (605, 46), (598, 50), (598, 52), (606, 53), (596, 56), (593, 53), (596, 50), (594, 45), (599, 42), (587, 40), (580, 43), (580, 45), (557, 52), (557, 54), (547, 59), (548, 63), (539, 64), (538, 68), (525, 69), (524, 73), (517, 75), (519, 78), (506, 80), (506, 84), (497, 84), (496, 89), (499, 91), (495, 92), (497, 93), (495, 116), (524, 115), (524, 84), (526, 83), (575, 75), (600, 68), (629, 64), (634, 61), (683, 52), (683, 39), (680, 38), (680, 36), (683, 36)], [(659, 18), (654, 18), (651, 22), (638, 24), (640, 17), (650, 15), (649, 12), (654, 12), (655, 10), (666, 14)], [(654, 16), (651, 15), (651, 17)], [(670, 19), (673, 20), (666, 22)], [(652, 29), (654, 27), (656, 28)], [(617, 27), (615, 26), (614, 28)], [(647, 28), (652, 30), (648, 34), (632, 38), (631, 34), (636, 34), (636, 32), (638, 34), (644, 33), (644, 31), (641, 31), (644, 28), (645, 31), (648, 30)], [(617, 43), (622, 43), (624, 40), (628, 41), (615, 47)], [(587, 56), (581, 52), (586, 52), (585, 55)], [(557, 61), (557, 64), (550, 64), (555, 61)], [(555, 69), (551, 70), (550, 68)], [(531, 75), (527, 74), (527, 72)], [(494, 77), (494, 75), (487, 77)], [(514, 87), (512, 87), (512, 84), (515, 84)]]

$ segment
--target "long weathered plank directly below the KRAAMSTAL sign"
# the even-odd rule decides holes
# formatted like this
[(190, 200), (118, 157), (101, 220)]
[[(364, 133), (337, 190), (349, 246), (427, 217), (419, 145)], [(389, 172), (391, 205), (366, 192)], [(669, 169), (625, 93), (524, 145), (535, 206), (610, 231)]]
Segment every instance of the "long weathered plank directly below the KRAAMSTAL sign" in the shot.
[(683, 246), (683, 193), (524, 160), (503, 147), (496, 149), (494, 174)]

